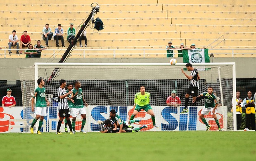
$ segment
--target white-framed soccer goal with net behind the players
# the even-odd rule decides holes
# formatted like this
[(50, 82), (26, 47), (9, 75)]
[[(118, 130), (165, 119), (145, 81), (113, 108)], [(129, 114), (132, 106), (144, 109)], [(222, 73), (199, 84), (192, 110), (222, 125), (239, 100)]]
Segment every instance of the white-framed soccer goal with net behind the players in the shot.
[[(196, 63), (192, 64), (199, 70), (199, 94), (206, 92), (208, 86), (213, 87), (213, 93), (220, 97), (217, 117), (220, 127), (224, 131), (236, 130), (236, 117), (231, 112), (232, 98), (235, 98), (235, 63)], [(45, 81), (46, 94), (51, 101), (47, 110), (47, 117), (42, 131), (56, 132), (59, 120), (57, 104), (57, 88), (59, 80), (73, 84), (75, 80), (81, 82), (85, 100), (89, 106), (85, 130), (88, 132), (100, 131), (97, 121), (104, 121), (109, 117), (109, 110), (115, 109), (117, 114), (128, 121), (133, 113), (134, 96), (144, 85), (150, 92), (150, 105), (156, 117), (156, 124), (145, 111), (140, 111), (135, 119), (141, 119), (135, 127), (148, 125), (142, 130), (206, 130), (206, 125), (199, 118), (204, 100), (192, 103), (189, 99), (189, 112), (181, 114), (185, 104), (185, 94), (189, 87), (188, 80), (181, 72), (186, 69), (185, 63), (170, 65), (169, 63), (35, 63), (34, 66), (19, 68), (21, 79), (22, 101), (24, 106), (24, 119), (31, 125), (33, 113), (31, 112), (31, 93), (37, 87), (37, 79)], [(190, 75), (190, 71), (185, 71)], [(181, 99), (180, 107), (168, 107), (166, 98), (171, 91)], [(206, 115), (206, 121), (211, 125), (210, 130), (218, 130), (211, 115)], [(81, 122), (76, 123), (79, 129)], [(24, 128), (28, 131), (29, 126)], [(62, 125), (63, 129), (63, 125)]]

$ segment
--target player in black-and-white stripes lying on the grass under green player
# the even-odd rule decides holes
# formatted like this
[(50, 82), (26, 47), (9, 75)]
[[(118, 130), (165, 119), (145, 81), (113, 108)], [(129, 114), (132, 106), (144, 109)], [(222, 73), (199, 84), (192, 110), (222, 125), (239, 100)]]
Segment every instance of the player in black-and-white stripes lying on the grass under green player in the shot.
[[(117, 128), (116, 123), (114, 123), (114, 121), (112, 121), (111, 119), (107, 119), (104, 122), (98, 120), (97, 121), (100, 125), (101, 125), (101, 133), (118, 133), (119, 132), (119, 128)], [(138, 132), (138, 130), (141, 130), (142, 128), (147, 128), (147, 125), (143, 125), (140, 128), (123, 128), (123, 130), (121, 131), (121, 133), (135, 133)], [(116, 129), (116, 130), (113, 130)]]

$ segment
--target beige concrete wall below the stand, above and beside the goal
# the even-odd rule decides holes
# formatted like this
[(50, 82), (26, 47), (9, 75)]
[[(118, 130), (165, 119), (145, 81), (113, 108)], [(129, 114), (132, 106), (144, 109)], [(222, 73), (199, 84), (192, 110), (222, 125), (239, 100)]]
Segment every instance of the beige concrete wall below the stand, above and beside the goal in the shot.
[[(178, 62), (183, 62), (183, 58), (176, 58)], [(170, 58), (70, 58), (69, 63), (166, 63)], [(33, 66), (35, 62), (59, 62), (57, 59), (48, 58), (8, 58), (0, 59), (0, 80), (19, 80), (18, 67)], [(237, 78), (256, 78), (254, 64), (256, 58), (210, 58), (210, 62), (235, 62)]]

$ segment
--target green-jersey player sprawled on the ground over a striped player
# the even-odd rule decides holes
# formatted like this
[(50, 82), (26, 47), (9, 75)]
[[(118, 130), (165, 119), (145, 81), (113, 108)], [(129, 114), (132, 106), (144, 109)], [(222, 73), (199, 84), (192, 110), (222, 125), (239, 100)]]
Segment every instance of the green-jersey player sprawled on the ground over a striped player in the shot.
[(112, 130), (115, 131), (117, 130), (117, 128), (119, 128), (119, 132), (117, 133), (138, 132), (138, 130), (141, 130), (142, 128), (147, 128), (147, 125), (143, 125), (140, 128), (134, 128), (133, 126), (128, 125), (129, 123), (140, 122), (141, 120), (123, 121), (122, 118), (118, 114), (116, 114), (116, 110), (114, 109), (110, 110), (109, 118), (116, 124), (116, 126)]

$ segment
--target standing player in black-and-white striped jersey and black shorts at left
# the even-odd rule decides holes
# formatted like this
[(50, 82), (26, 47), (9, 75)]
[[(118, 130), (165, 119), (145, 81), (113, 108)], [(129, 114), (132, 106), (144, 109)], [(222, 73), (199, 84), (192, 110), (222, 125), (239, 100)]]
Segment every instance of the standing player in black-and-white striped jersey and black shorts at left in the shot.
[(72, 93), (72, 91), (69, 91), (68, 93), (66, 92), (66, 80), (62, 79), (59, 81), (60, 87), (57, 90), (58, 93), (58, 109), (59, 109), (59, 122), (57, 126), (57, 133), (56, 134), (62, 134), (60, 133), (59, 129), (60, 126), (62, 125), (62, 121), (64, 117), (67, 119), (67, 123), (69, 125), (69, 130), (70, 134), (73, 134), (72, 131), (72, 124), (69, 119), (70, 117), (70, 112), (69, 112), (69, 104), (68, 104), (68, 99), (74, 103), (73, 99), (70, 99), (68, 96)]

